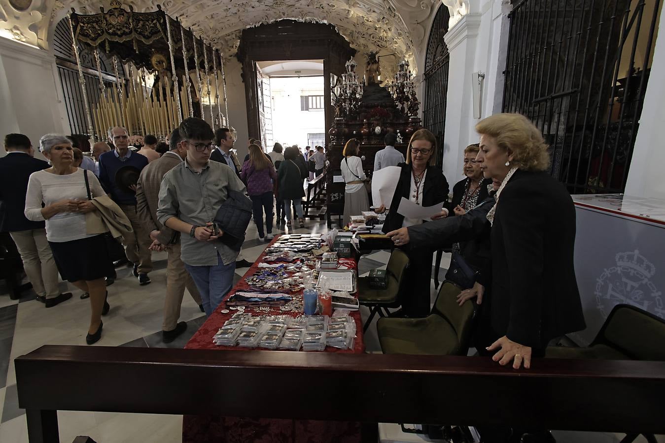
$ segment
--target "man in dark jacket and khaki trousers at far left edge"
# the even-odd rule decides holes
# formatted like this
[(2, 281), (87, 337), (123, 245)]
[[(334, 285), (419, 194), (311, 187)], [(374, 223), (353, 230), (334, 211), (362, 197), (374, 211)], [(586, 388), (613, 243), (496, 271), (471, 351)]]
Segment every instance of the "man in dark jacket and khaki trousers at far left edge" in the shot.
[(5, 150), (7, 155), (0, 159), (0, 232), (9, 232), (37, 300), (51, 308), (71, 298), (72, 293), (61, 294), (58, 288), (58, 268), (44, 222), (29, 221), (23, 214), (30, 175), (47, 169), (49, 163), (32, 157), (30, 139), (20, 133), (5, 136)]

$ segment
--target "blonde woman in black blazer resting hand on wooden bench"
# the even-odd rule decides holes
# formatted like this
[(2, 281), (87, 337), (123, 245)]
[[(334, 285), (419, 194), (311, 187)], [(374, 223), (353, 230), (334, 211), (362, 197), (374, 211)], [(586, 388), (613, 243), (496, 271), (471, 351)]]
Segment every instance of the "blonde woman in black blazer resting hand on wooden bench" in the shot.
[(491, 222), (491, 327), (494, 361), (529, 368), (547, 343), (585, 328), (573, 250), (575, 207), (546, 171), (543, 135), (519, 114), (479, 122), (477, 161), (485, 177), (501, 180)]

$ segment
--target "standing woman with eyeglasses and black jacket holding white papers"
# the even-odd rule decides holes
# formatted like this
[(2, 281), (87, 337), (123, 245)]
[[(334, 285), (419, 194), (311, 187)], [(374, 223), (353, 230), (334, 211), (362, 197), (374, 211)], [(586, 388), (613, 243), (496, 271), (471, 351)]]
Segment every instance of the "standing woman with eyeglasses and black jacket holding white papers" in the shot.
[[(432, 220), (448, 216), (448, 181), (441, 168), (436, 167), (436, 137), (428, 130), (418, 130), (409, 141), (409, 152), (406, 163), (400, 163), (402, 168), (400, 179), (392, 197), (383, 232), (390, 232), (399, 228), (406, 228), (425, 222), (420, 219), (409, 219), (399, 211), (402, 197), (423, 207), (442, 205), (441, 212), (432, 217)], [(378, 212), (384, 211), (382, 206)], [(397, 238), (395, 246), (399, 247)], [(430, 280), (432, 276), (432, 254), (429, 248), (411, 249), (407, 251), (410, 258), (406, 278), (407, 286), (414, 290), (402, 300), (402, 313), (408, 317), (425, 317), (430, 313)]]

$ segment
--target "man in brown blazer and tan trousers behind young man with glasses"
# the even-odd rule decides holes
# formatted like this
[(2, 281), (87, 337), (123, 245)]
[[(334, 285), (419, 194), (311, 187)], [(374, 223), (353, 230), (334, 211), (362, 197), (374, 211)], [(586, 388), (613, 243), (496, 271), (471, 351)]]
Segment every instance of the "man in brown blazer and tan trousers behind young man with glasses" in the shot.
[(136, 213), (141, 223), (150, 231), (151, 250), (166, 248), (168, 260), (166, 264), (166, 296), (164, 298), (164, 323), (162, 323), (162, 340), (170, 343), (187, 329), (185, 321), (178, 322), (180, 306), (185, 288), (190, 292), (194, 302), (203, 310), (201, 294), (199, 294), (192, 276), (185, 269), (180, 258), (180, 233), (167, 228), (157, 219), (160, 185), (164, 175), (180, 165), (187, 157), (187, 148), (180, 143), (180, 130), (176, 128), (169, 139), (170, 151), (144, 167), (136, 183)]

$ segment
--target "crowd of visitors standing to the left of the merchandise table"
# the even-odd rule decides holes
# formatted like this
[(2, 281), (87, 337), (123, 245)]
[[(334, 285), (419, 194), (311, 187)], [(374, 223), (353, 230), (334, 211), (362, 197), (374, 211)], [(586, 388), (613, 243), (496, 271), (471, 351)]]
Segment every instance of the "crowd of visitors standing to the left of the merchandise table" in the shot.
[(211, 241), (221, 238), (217, 209), (233, 192), (247, 193), (259, 238), (271, 240), (273, 221), (277, 228), (291, 226), (292, 206), (304, 226), (304, 181), (325, 168), (323, 147), (315, 152), (308, 146), (303, 154), (297, 145), (275, 143), (264, 153), (258, 139), (249, 140), (240, 163), (231, 132), (213, 133), (196, 118), (182, 122), (167, 141), (130, 137), (122, 127), (92, 146), (78, 135), (47, 134), (39, 141), (43, 161), (26, 135), (5, 137), (0, 231), (11, 234), (37, 300), (47, 308), (72, 297), (59, 292), (59, 276), (90, 299), (88, 344), (101, 337), (115, 269), (128, 264), (140, 286), (150, 284), (156, 251), (167, 253), (164, 342), (187, 327), (178, 321), (185, 289), (209, 315), (231, 288), (235, 268), (251, 266), (241, 242), (227, 241), (231, 233)]

